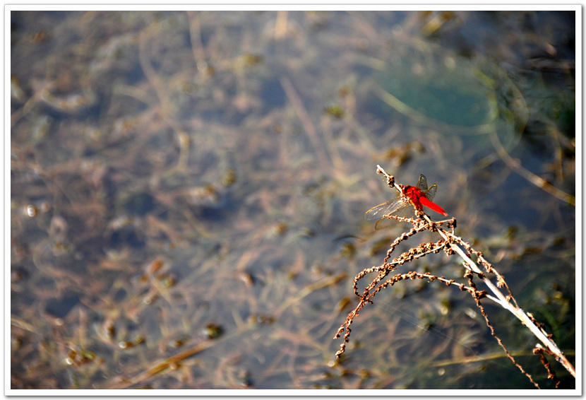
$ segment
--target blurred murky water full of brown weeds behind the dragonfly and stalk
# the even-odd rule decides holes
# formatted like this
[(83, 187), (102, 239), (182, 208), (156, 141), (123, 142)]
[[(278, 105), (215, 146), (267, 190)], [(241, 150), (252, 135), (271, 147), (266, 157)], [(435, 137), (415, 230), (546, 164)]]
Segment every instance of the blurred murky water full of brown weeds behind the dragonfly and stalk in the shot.
[(339, 362), (333, 336), (408, 228), (364, 220), (380, 164), (438, 184), (574, 362), (575, 15), (11, 11), (10, 387), (533, 389), (441, 283), (378, 293)]

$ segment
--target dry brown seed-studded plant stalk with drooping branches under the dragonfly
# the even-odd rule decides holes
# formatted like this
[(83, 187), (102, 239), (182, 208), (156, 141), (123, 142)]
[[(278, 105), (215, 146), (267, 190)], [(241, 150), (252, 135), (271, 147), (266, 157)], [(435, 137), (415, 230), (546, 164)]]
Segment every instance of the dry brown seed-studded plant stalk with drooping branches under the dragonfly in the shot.
[[(494, 266), (490, 264), (489, 261), (486, 261), (482, 253), (473, 249), (470, 243), (465, 242), (461, 237), (458, 237), (454, 234), (454, 229), (456, 227), (455, 218), (437, 222), (431, 220), (429, 216), (424, 213), (421, 204), (413, 204), (413, 202), (409, 199), (406, 190), (407, 186), (395, 183), (395, 177), (388, 175), (388, 173), (385, 172), (385, 170), (383, 170), (380, 165), (377, 165), (376, 172), (386, 177), (389, 187), (397, 189), (400, 194), (401, 201), (409, 202), (411, 206), (414, 207), (417, 218), (406, 218), (393, 214), (385, 214), (382, 216), (382, 218), (410, 223), (413, 225), (413, 227), (409, 231), (402, 233), (390, 245), (390, 248), (387, 251), (387, 255), (383, 260), (383, 264), (363, 269), (360, 271), (360, 273), (357, 274), (357, 276), (354, 277), (354, 293), (360, 298), (360, 301), (358, 305), (354, 307), (354, 310), (349, 312), (346, 318), (346, 322), (340, 326), (340, 329), (337, 330), (337, 333), (334, 336), (334, 339), (337, 339), (340, 337), (342, 332), (345, 331), (344, 341), (340, 345), (340, 350), (336, 352), (336, 358), (339, 359), (342, 353), (344, 353), (346, 350), (346, 343), (349, 342), (349, 336), (351, 332), (350, 325), (354, 321), (354, 318), (358, 316), (360, 310), (362, 310), (366, 304), (373, 303), (373, 298), (377, 293), (385, 288), (388, 288), (389, 286), (395, 285), (395, 283), (399, 283), (400, 281), (407, 279), (425, 279), (430, 283), (439, 281), (445, 283), (447, 286), (455, 286), (463, 292), (470, 293), (474, 299), (474, 302), (476, 302), (477, 307), (479, 307), (480, 313), (484, 317), (486, 325), (489, 327), (492, 336), (494, 336), (498, 344), (501, 346), (501, 348), (503, 348), (503, 351), (505, 351), (507, 357), (513, 362), (513, 364), (515, 364), (515, 366), (518, 367), (519, 370), (525, 376), (527, 376), (538, 389), (539, 385), (537, 382), (535, 382), (532, 376), (523, 369), (523, 367), (515, 360), (515, 358), (513, 358), (513, 355), (511, 355), (511, 353), (505, 347), (504, 343), (496, 335), (496, 331), (489, 320), (488, 314), (486, 314), (484, 306), (482, 305), (482, 300), (492, 300), (493, 302), (496, 302), (496, 304), (501, 305), (501, 307), (503, 307), (505, 310), (512, 312), (515, 317), (520, 319), (521, 323), (527, 327), (527, 329), (530, 329), (530, 331), (532, 331), (532, 333), (537, 336), (537, 339), (539, 339), (541, 343), (537, 343), (537, 345), (534, 347), (533, 353), (539, 355), (542, 364), (548, 372), (548, 378), (556, 384), (556, 388), (558, 388), (559, 380), (557, 379), (555, 372), (552, 370), (551, 365), (546, 360), (546, 354), (553, 356), (556, 361), (561, 363), (561, 365), (563, 365), (563, 367), (565, 367), (566, 370), (568, 370), (570, 374), (575, 377), (575, 369), (573, 365), (558, 348), (552, 339), (551, 334), (546, 333), (544, 330), (544, 324), (537, 322), (537, 320), (530, 312), (525, 312), (522, 310), (513, 297), (513, 293), (511, 293), (505, 278), (500, 273), (498, 273), (498, 271), (496, 271)], [(420, 243), (416, 247), (409, 249), (407, 252), (403, 252), (399, 257), (391, 259), (391, 254), (393, 254), (393, 251), (395, 251), (397, 245), (409, 239), (409, 237), (414, 237), (414, 235), (417, 235), (417, 233), (421, 233), (425, 230), (436, 233), (441, 238), (437, 242)], [(390, 276), (390, 278), (387, 278), (390, 273), (395, 272), (400, 266), (403, 266), (403, 264), (420, 259), (421, 257), (424, 257), (428, 254), (438, 253), (441, 251), (448, 254), (448, 256), (458, 254), (458, 256), (464, 260), (462, 265), (465, 267), (463, 274), (465, 283), (459, 282), (455, 278), (446, 278), (444, 276), (433, 275), (433, 273), (429, 272), (421, 273), (417, 271), (395, 273), (393, 276)], [(482, 271), (480, 266), (482, 266), (484, 271)], [(360, 294), (358, 289), (358, 282), (370, 273), (376, 273), (376, 277), (373, 278), (371, 283), (369, 283), (369, 285), (364, 288), (362, 294)], [(477, 283), (474, 281), (474, 278), (482, 281), (488, 290), (480, 290), (477, 288)]]

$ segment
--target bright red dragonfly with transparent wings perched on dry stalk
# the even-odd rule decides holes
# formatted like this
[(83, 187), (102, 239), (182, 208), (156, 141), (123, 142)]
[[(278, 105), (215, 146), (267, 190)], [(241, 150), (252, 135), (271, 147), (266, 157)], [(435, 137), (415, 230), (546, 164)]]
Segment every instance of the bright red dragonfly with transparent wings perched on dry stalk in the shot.
[(382, 229), (393, 223), (393, 220), (390, 218), (382, 218), (385, 215), (393, 214), (393, 216), (414, 218), (416, 216), (414, 209), (421, 210), (423, 206), (431, 208), (443, 216), (448, 215), (446, 211), (443, 211), (443, 208), (431, 201), (436, 196), (438, 185), (433, 184), (427, 189), (427, 179), (424, 175), (419, 177), (417, 187), (408, 184), (400, 184), (399, 187), (402, 189), (402, 196), (389, 200), (386, 203), (378, 204), (378, 206), (371, 208), (364, 214), (366, 220), (380, 218), (376, 225), (374, 225), (375, 229)]

